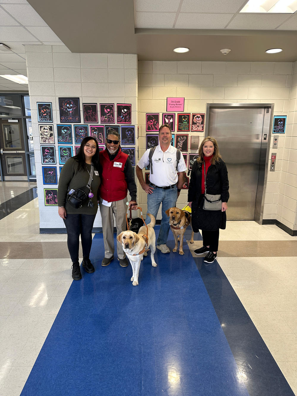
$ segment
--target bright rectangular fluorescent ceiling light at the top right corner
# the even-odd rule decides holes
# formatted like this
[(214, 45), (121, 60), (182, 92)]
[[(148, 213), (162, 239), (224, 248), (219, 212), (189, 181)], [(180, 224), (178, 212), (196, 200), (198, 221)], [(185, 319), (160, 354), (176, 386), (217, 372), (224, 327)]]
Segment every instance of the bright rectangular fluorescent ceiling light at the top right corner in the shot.
[(249, 0), (240, 12), (293, 14), (297, 0)]

